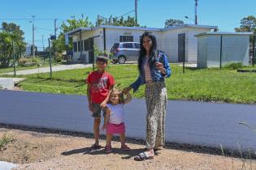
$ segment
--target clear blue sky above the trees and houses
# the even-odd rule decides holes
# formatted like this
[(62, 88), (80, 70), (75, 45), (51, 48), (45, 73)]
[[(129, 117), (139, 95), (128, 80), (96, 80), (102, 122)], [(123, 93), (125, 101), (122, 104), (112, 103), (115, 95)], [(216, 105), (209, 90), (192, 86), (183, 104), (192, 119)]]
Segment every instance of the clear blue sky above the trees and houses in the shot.
[[(35, 45), (41, 50), (47, 38), (72, 15), (76, 19), (88, 16), (95, 24), (97, 15), (108, 18), (134, 10), (135, 0), (0, 0), (0, 23), (16, 23), (24, 31), (25, 41), (32, 44), (32, 15), (35, 15)], [(137, 19), (141, 26), (163, 28), (166, 19), (181, 19), (194, 23), (194, 0), (138, 0)], [(134, 12), (129, 15), (134, 16)], [(197, 18), (200, 25), (218, 26), (219, 31), (234, 32), (241, 19), (256, 16), (256, 0), (198, 0)], [(185, 19), (189, 16), (190, 19)], [(58, 30), (58, 32), (60, 29)], [(57, 33), (58, 33), (57, 32)]]

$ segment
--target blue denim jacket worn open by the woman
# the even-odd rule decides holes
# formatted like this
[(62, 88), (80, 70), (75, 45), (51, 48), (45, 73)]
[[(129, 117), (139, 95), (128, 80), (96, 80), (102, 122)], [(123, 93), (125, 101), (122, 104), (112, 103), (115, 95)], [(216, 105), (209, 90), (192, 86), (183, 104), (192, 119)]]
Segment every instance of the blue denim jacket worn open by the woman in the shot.
[[(154, 82), (164, 82), (164, 78), (168, 78), (171, 76), (171, 67), (169, 66), (169, 62), (167, 60), (167, 56), (164, 52), (158, 51), (157, 62), (163, 63), (163, 68), (166, 70), (166, 74), (161, 73), (155, 66), (150, 66), (151, 77)], [(142, 68), (145, 65), (145, 58), (143, 58)], [(142, 73), (139, 75), (138, 79), (130, 85), (132, 87), (133, 92), (137, 91), (138, 88), (145, 84), (145, 72), (142, 69)]]

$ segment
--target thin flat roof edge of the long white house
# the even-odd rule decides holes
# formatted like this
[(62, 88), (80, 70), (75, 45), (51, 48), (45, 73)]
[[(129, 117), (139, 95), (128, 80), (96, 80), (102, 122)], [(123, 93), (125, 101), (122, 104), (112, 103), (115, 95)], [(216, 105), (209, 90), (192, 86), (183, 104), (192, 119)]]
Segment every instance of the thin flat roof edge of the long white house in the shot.
[(124, 26), (114, 26), (114, 25), (98, 25), (94, 28), (76, 28), (70, 32), (65, 33), (65, 35), (72, 36), (80, 31), (93, 31), (99, 28), (114, 28), (114, 29), (129, 29), (129, 30), (141, 30), (141, 31), (156, 31), (156, 32), (163, 32), (169, 30), (175, 30), (180, 28), (209, 28), (215, 29), (218, 28), (217, 26), (210, 26), (210, 25), (193, 25), (193, 24), (183, 24), (180, 26), (169, 27), (169, 28), (141, 28), (141, 27), (124, 27)]

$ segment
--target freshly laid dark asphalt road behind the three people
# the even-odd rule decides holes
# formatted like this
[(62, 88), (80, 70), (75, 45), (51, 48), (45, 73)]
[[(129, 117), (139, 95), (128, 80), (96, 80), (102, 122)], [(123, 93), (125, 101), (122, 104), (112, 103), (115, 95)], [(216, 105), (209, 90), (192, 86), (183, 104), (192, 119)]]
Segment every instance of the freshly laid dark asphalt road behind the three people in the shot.
[[(125, 105), (127, 136), (145, 138), (145, 100)], [(256, 151), (256, 105), (169, 100), (167, 142)], [(86, 96), (0, 91), (0, 123), (92, 133)], [(103, 134), (103, 132), (102, 132)]]

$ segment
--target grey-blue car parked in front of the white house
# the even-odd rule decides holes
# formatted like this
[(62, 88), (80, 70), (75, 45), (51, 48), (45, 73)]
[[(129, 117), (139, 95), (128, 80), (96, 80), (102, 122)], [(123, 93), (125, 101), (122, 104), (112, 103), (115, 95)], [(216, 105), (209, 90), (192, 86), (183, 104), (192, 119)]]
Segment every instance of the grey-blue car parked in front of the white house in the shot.
[(120, 42), (115, 43), (110, 53), (113, 63), (124, 64), (126, 61), (137, 61), (140, 53), (140, 43), (137, 42)]

